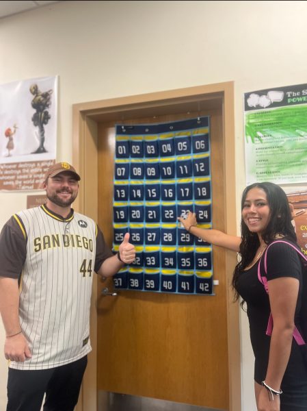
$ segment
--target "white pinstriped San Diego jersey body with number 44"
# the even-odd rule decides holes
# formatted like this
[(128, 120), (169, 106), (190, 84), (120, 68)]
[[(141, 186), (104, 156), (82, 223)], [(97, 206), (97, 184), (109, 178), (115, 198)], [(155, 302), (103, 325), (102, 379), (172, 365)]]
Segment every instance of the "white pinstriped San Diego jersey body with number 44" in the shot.
[(19, 316), (32, 358), (13, 369), (49, 369), (91, 351), (90, 299), (97, 226), (74, 213), (63, 221), (45, 206), (14, 214), (27, 244)]

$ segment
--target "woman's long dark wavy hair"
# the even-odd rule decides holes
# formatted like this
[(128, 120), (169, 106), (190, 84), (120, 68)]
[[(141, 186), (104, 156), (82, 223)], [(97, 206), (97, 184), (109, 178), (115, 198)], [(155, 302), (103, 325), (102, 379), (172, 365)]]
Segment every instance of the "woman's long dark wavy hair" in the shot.
[[(246, 196), (252, 188), (261, 188), (267, 195), (267, 203), (269, 205), (269, 222), (262, 234), (262, 238), (266, 244), (269, 244), (278, 235), (287, 236), (289, 240), (296, 241), (296, 234), (291, 223), (291, 210), (286, 193), (280, 186), (276, 184), (264, 182), (254, 183), (246, 187), (242, 194), (241, 210), (245, 203)], [(232, 277), (232, 288), (235, 290), (235, 300), (239, 299), (239, 292), (237, 289), (239, 275), (247, 267), (256, 254), (260, 245), (258, 234), (250, 232), (248, 226), (241, 219), (241, 244), (239, 255), (240, 262), (235, 266), (235, 271)]]

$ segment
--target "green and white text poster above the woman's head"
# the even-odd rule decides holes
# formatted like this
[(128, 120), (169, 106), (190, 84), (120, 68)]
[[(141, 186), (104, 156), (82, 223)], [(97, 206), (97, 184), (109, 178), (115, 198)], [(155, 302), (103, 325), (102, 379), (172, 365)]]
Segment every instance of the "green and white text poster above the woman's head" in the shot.
[(307, 182), (307, 84), (244, 95), (245, 171), (254, 182)]

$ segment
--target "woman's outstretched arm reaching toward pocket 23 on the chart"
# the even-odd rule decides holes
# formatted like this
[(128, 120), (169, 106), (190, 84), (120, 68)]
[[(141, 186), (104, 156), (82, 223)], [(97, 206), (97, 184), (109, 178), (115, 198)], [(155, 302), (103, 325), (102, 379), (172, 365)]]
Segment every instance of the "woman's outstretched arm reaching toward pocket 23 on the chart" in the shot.
[(203, 229), (197, 227), (195, 212), (189, 212), (186, 219), (178, 217), (178, 220), (189, 233), (193, 234), (193, 236), (202, 238), (202, 240), (210, 242), (210, 244), (219, 245), (219, 247), (239, 252), (241, 244), (240, 237), (230, 236), (218, 229)]

